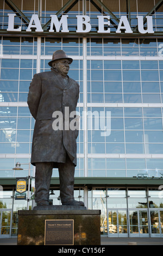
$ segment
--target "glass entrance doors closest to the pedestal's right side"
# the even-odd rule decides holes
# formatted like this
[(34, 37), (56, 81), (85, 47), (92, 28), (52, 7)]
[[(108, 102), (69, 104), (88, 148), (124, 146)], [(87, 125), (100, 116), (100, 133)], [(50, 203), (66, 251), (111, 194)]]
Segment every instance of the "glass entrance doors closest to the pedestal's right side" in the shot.
[(109, 237), (127, 237), (127, 209), (108, 210)]

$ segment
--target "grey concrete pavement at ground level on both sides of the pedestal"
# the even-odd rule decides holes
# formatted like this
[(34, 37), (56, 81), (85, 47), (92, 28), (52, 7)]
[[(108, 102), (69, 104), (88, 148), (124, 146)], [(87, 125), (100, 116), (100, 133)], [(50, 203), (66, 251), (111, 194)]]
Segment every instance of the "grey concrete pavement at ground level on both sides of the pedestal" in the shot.
[[(17, 245), (17, 238), (0, 239), (1, 245)], [(161, 237), (101, 237), (101, 245), (163, 245)]]

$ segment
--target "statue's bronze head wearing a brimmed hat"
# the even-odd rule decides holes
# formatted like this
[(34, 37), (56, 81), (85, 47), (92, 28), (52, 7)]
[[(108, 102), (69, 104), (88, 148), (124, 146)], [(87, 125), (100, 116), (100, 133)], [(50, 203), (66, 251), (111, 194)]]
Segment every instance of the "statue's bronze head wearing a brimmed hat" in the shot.
[(64, 51), (58, 50), (53, 53), (52, 60), (48, 64), (52, 68), (57, 69), (62, 75), (67, 75), (72, 62), (73, 59), (68, 58)]

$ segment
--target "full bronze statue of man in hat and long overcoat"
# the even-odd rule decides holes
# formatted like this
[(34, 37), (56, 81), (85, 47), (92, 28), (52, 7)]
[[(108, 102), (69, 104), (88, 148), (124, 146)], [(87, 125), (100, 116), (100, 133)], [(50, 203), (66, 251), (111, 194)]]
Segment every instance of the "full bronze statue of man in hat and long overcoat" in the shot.
[[(80, 205), (74, 200), (74, 169), (77, 164), (78, 129), (70, 129), (73, 118), (68, 113), (76, 113), (79, 97), (79, 84), (68, 77), (73, 59), (58, 50), (53, 53), (51, 71), (35, 74), (29, 87), (28, 106), (34, 117), (35, 127), (32, 144), (31, 163), (35, 172), (35, 202), (49, 204), (49, 187), (52, 169), (58, 168), (60, 198), (62, 205)], [(62, 125), (54, 127), (61, 113)], [(55, 118), (54, 118), (55, 117)]]

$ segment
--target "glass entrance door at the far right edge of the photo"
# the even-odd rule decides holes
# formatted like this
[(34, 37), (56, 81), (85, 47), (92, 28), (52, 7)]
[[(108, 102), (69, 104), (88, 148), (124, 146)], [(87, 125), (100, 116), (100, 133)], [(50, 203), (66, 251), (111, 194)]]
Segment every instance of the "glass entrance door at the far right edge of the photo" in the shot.
[(163, 210), (150, 209), (151, 236), (163, 237)]

